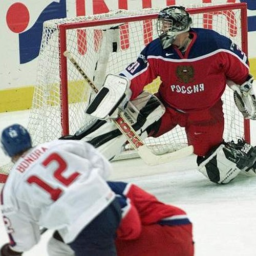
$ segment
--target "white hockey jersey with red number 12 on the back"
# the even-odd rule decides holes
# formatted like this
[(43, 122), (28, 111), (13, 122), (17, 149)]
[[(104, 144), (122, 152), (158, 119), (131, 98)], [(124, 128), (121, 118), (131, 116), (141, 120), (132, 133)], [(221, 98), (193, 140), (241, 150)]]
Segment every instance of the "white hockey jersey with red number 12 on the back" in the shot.
[(1, 196), (13, 250), (38, 243), (40, 226), (73, 241), (113, 201), (115, 194), (105, 182), (110, 168), (92, 145), (74, 140), (40, 144), (20, 157)]

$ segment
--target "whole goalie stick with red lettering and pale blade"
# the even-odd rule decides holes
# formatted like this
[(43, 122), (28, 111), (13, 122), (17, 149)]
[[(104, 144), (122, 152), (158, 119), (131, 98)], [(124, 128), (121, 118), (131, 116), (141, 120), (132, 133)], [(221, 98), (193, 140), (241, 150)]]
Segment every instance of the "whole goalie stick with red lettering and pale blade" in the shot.
[[(78, 65), (76, 60), (72, 57), (71, 53), (69, 51), (65, 51), (63, 55), (71, 61), (71, 63), (74, 65), (77, 71), (89, 83), (90, 87), (94, 90), (94, 92), (97, 93), (98, 89), (95, 87), (95, 85), (86, 75), (86, 73), (84, 73), (84, 71)], [(148, 165), (167, 163), (179, 158), (189, 156), (194, 151), (193, 146), (190, 145), (172, 153), (156, 155), (142, 142), (142, 140), (137, 135), (133, 127), (126, 121), (126, 118), (121, 112), (119, 113), (118, 118), (114, 120), (114, 122), (117, 125), (120, 132), (127, 138), (127, 141), (129, 141), (133, 148), (138, 151), (138, 154), (141, 157), (141, 159)]]

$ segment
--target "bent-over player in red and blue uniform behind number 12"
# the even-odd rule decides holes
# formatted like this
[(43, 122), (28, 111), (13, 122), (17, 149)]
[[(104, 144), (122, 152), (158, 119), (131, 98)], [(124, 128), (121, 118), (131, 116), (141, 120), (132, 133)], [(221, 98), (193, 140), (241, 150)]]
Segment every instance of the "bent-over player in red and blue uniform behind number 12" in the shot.
[[(122, 209), (116, 238), (118, 256), (194, 255), (192, 224), (182, 209), (159, 202), (134, 184), (108, 183)], [(58, 232), (48, 243), (48, 254), (74, 256)]]

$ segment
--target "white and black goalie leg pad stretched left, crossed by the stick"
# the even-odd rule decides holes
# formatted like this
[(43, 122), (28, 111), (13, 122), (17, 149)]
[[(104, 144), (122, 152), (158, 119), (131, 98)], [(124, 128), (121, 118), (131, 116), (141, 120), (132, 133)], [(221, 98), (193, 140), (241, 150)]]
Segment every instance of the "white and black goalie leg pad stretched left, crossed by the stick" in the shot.
[[(164, 112), (165, 108), (159, 99), (144, 91), (136, 99), (127, 102), (123, 114), (138, 135), (144, 139), (147, 137), (147, 127), (159, 120)], [(108, 116), (110, 113), (104, 113), (101, 117), (105, 114)], [(114, 122), (100, 119), (82, 127), (74, 135), (63, 136), (60, 139), (85, 140), (98, 148), (109, 160), (120, 154), (127, 140)]]

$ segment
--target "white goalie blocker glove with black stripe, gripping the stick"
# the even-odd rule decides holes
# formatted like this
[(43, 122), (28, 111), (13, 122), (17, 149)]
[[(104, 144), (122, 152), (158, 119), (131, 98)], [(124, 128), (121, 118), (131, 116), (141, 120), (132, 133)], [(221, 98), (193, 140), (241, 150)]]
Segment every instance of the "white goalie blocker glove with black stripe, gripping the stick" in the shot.
[[(98, 119), (116, 118), (118, 107), (130, 99), (130, 80), (126, 77), (108, 74), (103, 87), (88, 105), (86, 113)], [(115, 114), (113, 114), (116, 111)]]

